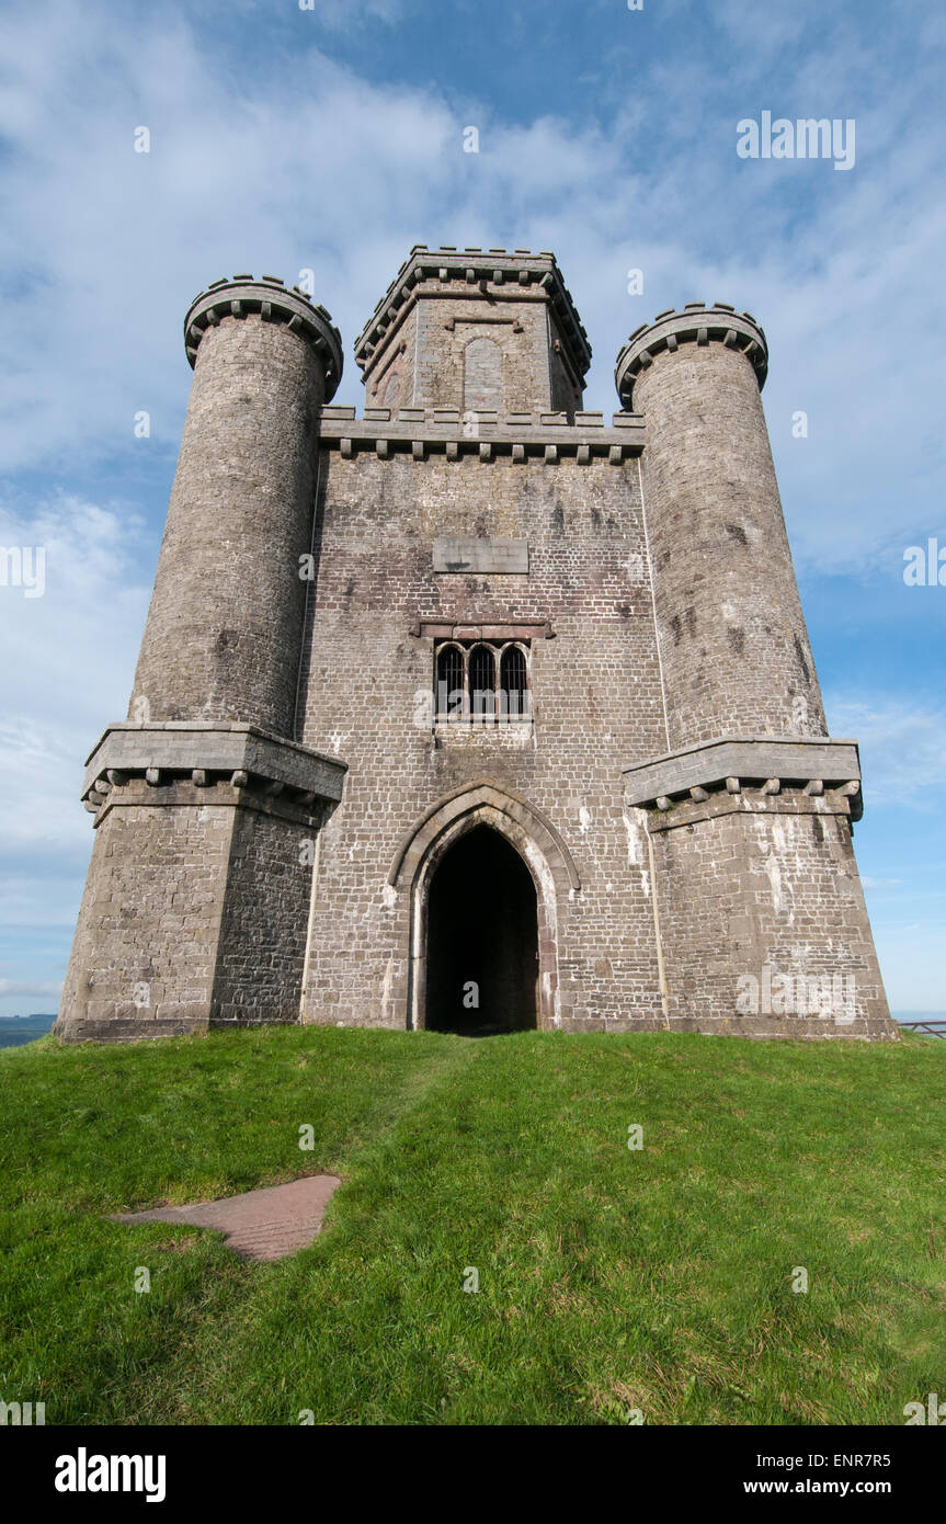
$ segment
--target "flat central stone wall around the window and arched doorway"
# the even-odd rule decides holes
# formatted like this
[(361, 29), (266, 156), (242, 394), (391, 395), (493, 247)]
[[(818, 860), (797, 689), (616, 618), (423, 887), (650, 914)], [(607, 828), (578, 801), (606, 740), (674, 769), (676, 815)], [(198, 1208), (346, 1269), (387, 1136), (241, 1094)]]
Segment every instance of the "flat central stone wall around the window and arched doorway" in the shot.
[[(527, 539), (529, 575), (437, 575), (445, 535)], [(317, 541), (302, 739), (349, 773), (323, 832), (305, 1020), (407, 1024), (411, 896), (387, 882), (392, 860), (423, 811), (481, 780), (542, 811), (577, 867), (558, 905), (561, 1024), (660, 1020), (647, 864), (618, 783), (629, 757), (666, 750), (637, 459), (323, 451)], [(533, 725), (433, 727), (423, 620), (550, 620), (554, 639), (532, 642)]]

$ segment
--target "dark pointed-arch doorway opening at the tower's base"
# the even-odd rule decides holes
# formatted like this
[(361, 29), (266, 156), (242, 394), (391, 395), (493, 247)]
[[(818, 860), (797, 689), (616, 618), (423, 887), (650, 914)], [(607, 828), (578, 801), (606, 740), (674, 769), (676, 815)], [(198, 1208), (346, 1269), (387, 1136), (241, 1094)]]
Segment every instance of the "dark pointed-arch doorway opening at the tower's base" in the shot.
[(427, 914), (427, 1027), (492, 1036), (536, 1026), (538, 904), (519, 853), (475, 826), (434, 870)]

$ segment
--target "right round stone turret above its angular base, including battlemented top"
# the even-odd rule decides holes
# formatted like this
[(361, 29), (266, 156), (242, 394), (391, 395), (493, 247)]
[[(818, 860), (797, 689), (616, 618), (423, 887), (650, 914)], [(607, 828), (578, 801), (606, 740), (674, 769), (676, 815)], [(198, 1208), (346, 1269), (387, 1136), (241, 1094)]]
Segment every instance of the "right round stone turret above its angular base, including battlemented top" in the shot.
[(670, 750), (740, 736), (823, 736), (748, 312), (690, 302), (634, 332), (617, 360), (643, 413), (644, 514)]

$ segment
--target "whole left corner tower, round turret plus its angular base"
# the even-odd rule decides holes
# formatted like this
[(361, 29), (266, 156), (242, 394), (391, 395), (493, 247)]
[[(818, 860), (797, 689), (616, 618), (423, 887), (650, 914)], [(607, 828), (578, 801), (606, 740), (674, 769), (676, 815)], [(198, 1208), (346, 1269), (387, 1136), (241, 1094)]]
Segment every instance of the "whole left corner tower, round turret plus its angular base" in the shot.
[(56, 1030), (294, 1021), (314, 835), (343, 765), (296, 744), (323, 308), (218, 280), (186, 319), (193, 386), (129, 704), (87, 765), (96, 840)]

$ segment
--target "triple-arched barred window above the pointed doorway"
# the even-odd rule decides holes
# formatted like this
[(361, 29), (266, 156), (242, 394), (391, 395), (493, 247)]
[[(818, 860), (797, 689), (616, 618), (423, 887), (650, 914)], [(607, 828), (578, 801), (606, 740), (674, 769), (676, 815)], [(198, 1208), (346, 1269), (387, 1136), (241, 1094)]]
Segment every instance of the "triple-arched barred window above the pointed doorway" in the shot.
[(439, 721), (529, 721), (529, 643), (445, 640), (434, 652), (434, 687)]

